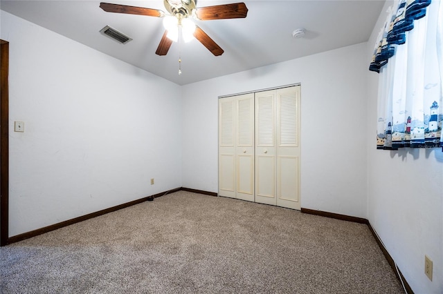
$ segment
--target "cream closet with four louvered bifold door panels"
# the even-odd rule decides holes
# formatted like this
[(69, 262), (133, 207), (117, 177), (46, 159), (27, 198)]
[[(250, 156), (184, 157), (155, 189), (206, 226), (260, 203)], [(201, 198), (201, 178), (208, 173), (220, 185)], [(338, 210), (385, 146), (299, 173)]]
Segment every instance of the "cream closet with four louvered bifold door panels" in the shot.
[(219, 98), (219, 195), (300, 209), (300, 86)]

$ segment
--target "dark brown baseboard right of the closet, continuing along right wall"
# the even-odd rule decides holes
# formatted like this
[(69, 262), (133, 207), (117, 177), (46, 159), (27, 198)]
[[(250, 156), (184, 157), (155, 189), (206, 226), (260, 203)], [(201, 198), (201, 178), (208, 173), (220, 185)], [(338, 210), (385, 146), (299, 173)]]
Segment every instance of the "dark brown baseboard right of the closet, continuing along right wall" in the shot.
[(394, 271), (394, 273), (397, 276), (397, 279), (399, 280), (399, 282), (404, 284), (404, 288), (405, 288), (405, 290), (406, 290), (406, 292), (408, 294), (414, 294), (413, 289), (410, 288), (410, 286), (409, 286), (408, 282), (406, 281), (404, 275), (401, 273), (400, 269), (397, 268), (397, 266), (395, 265), (394, 259), (392, 259), (392, 257), (390, 256), (390, 254), (386, 250), (385, 246), (383, 245), (383, 243), (379, 239), (379, 235), (377, 235), (377, 233), (375, 232), (374, 228), (372, 228), (372, 226), (371, 226), (370, 222), (368, 221), (368, 219), (364, 219), (363, 217), (352, 217), (352, 216), (349, 216), (349, 215), (341, 215), (341, 214), (338, 214), (338, 213), (328, 213), (327, 211), (314, 210), (314, 209), (308, 209), (308, 208), (301, 208), (301, 212), (302, 213), (307, 213), (309, 215), (320, 215), (322, 217), (330, 217), (330, 218), (333, 218), (333, 219), (341, 219), (341, 220), (345, 220), (347, 222), (356, 222), (356, 223), (359, 223), (359, 224), (367, 224), (368, 228), (369, 228), (369, 231), (371, 231), (372, 235), (374, 236), (375, 241), (377, 242), (377, 244), (379, 244), (381, 252), (383, 252), (383, 255), (385, 255), (385, 258), (388, 261), (388, 264), (392, 268), (392, 271)]

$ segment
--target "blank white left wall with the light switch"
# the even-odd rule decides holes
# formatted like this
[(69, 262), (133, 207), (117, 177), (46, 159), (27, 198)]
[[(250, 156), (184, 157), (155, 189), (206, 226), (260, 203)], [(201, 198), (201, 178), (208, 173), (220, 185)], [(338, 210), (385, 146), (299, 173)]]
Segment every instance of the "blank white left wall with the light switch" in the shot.
[(3, 11), (1, 39), (10, 236), (181, 187), (180, 86)]

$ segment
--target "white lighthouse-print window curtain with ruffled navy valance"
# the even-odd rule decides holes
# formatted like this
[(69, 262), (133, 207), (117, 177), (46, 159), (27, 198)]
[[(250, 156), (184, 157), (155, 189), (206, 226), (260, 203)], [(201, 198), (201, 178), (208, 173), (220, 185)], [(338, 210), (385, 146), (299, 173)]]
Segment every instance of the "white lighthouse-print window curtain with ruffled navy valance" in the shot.
[(379, 72), (377, 148), (443, 151), (443, 1), (397, 1), (370, 70)]

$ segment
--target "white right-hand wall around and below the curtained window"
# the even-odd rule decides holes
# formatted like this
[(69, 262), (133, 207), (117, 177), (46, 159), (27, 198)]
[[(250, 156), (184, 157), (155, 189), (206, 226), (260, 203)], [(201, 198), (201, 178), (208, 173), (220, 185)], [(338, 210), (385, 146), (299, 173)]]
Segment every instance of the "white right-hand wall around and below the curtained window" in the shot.
[[(386, 3), (368, 41), (369, 64)], [(368, 219), (415, 293), (443, 293), (443, 152), (376, 150), (378, 75), (368, 71)], [(424, 255), (433, 259), (433, 281)]]

